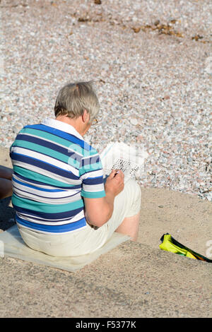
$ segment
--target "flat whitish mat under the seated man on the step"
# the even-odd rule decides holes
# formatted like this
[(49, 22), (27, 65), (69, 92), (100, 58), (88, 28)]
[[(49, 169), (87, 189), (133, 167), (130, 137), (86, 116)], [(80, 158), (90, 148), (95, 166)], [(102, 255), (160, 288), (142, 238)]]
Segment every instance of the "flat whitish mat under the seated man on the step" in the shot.
[(31, 261), (33, 263), (74, 272), (83, 268), (83, 266), (86, 266), (88, 263), (95, 261), (100, 255), (105, 254), (107, 251), (110, 251), (129, 239), (130, 237), (127, 235), (114, 232), (111, 239), (93, 254), (76, 257), (53, 257), (26, 246), (23, 239), (20, 237), (17, 225), (14, 225), (5, 232), (0, 233), (0, 256), (14, 257), (22, 259), (23, 261)]

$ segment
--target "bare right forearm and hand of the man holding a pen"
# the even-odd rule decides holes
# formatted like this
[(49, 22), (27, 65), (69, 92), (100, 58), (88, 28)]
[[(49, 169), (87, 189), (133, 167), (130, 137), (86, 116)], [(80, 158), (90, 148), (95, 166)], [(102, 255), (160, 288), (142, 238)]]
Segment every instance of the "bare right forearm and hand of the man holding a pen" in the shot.
[(105, 197), (86, 198), (86, 220), (90, 225), (101, 227), (111, 218), (114, 208), (114, 198), (124, 189), (124, 174), (119, 170), (112, 170), (105, 182)]

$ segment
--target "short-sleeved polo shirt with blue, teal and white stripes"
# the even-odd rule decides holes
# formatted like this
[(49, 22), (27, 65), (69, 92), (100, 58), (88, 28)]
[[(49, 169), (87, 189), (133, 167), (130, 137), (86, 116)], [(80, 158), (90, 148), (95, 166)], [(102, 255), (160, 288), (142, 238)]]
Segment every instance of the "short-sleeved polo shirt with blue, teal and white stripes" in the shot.
[(25, 126), (10, 155), (19, 225), (47, 234), (86, 227), (82, 197), (105, 196), (102, 163), (73, 126), (56, 119)]

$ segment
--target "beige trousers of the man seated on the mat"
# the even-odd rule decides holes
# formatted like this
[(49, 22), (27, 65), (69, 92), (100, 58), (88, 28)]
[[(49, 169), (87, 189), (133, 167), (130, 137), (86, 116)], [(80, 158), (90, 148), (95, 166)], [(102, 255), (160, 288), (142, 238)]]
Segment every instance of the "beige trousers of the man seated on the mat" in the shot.
[(79, 256), (90, 254), (102, 247), (126, 217), (136, 215), (141, 206), (139, 184), (130, 179), (124, 190), (114, 199), (114, 211), (110, 220), (95, 229), (86, 225), (83, 230), (67, 234), (47, 235), (18, 225), (20, 235), (28, 247), (51, 256)]

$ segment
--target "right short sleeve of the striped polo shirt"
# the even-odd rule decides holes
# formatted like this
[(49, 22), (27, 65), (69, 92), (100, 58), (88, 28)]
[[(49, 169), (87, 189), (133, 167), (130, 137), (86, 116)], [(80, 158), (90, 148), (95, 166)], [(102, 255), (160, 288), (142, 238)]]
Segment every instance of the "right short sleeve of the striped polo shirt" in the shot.
[(86, 198), (105, 196), (102, 162), (95, 149), (91, 148), (89, 154), (82, 158), (79, 175), (82, 181), (81, 196)]

